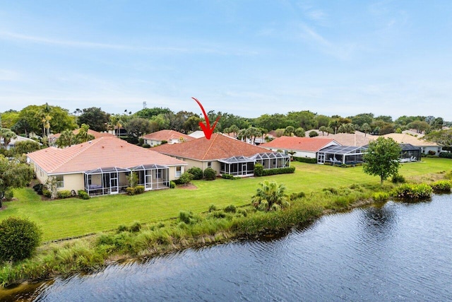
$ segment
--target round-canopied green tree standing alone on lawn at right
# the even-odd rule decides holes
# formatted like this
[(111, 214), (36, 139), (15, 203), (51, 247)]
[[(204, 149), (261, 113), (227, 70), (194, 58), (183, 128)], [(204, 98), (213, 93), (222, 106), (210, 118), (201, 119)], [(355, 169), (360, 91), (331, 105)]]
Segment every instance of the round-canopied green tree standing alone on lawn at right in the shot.
[(398, 173), (400, 151), (402, 149), (391, 137), (370, 141), (369, 149), (363, 156), (364, 173), (379, 176), (380, 185), (383, 185), (383, 180)]

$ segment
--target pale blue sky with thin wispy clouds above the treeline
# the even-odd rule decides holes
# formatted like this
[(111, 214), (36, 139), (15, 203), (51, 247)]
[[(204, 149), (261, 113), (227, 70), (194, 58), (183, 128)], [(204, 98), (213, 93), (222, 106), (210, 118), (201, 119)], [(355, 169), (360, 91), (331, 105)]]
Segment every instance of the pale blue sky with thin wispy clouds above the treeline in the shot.
[(1, 1), (0, 112), (452, 120), (452, 1)]

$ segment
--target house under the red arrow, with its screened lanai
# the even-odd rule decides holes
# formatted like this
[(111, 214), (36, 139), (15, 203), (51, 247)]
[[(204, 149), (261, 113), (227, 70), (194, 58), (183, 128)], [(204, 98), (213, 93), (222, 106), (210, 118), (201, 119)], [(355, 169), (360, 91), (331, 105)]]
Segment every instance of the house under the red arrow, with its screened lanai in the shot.
[(264, 169), (290, 166), (290, 156), (216, 133), (210, 139), (201, 137), (183, 144), (163, 144), (153, 150), (186, 161), (187, 168), (213, 168), (217, 175), (251, 176), (256, 163), (261, 163)]

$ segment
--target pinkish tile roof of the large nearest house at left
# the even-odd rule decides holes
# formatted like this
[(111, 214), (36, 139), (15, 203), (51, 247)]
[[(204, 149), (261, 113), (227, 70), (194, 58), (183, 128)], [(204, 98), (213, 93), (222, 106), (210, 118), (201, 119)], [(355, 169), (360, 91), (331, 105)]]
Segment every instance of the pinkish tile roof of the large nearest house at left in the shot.
[(49, 147), (28, 158), (47, 173), (76, 173), (96, 168), (132, 168), (136, 165), (183, 165), (184, 161), (141, 148), (116, 137), (100, 137), (65, 149)]

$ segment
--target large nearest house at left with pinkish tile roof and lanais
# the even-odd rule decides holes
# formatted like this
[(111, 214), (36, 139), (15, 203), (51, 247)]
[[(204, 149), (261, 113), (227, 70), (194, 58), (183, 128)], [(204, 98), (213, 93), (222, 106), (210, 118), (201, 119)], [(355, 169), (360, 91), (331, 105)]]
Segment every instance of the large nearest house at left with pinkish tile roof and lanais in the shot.
[(28, 153), (36, 177), (45, 183), (57, 180), (57, 190), (90, 195), (117, 194), (129, 186), (126, 178), (138, 173), (138, 185), (145, 190), (164, 189), (179, 178), (186, 163), (116, 137), (100, 137), (64, 149), (49, 147)]

